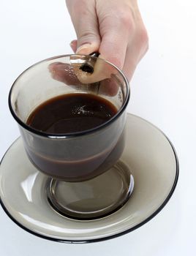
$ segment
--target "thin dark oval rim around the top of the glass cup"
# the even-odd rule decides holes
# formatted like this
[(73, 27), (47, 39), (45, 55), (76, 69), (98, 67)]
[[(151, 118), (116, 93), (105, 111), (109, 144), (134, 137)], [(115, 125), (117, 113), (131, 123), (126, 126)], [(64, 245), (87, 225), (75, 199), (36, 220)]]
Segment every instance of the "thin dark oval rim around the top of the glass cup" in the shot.
[[(64, 55), (59, 55), (59, 56), (53, 56), (53, 57), (44, 59), (42, 61), (38, 61), (35, 64), (33, 64), (30, 67), (28, 67), (27, 69), (25, 69), (22, 73), (20, 73), (20, 75), (18, 75), (18, 78), (15, 79), (14, 83), (11, 86), (11, 89), (10, 89), (10, 92), (9, 92), (9, 96), (8, 96), (8, 105), (9, 105), (9, 108), (10, 108), (10, 112), (11, 112), (13, 118), (15, 118), (15, 121), (17, 121), (17, 123), (20, 124), (21, 127), (23, 127), (24, 129), (28, 130), (29, 132), (34, 133), (35, 135), (39, 135), (41, 137), (51, 138), (51, 139), (64, 139), (64, 138), (72, 138), (72, 137), (81, 136), (81, 135), (88, 135), (88, 134), (91, 134), (93, 132), (97, 132), (100, 129), (103, 129), (105, 127), (108, 127), (108, 125), (112, 124), (113, 121), (115, 121), (116, 118), (118, 118), (118, 116), (121, 116), (121, 114), (127, 108), (127, 104), (129, 102), (129, 97), (130, 97), (129, 81), (127, 80), (127, 77), (124, 75), (124, 73), (121, 71), (121, 69), (116, 67), (116, 65), (110, 63), (109, 61), (106, 61), (105, 59), (102, 59), (103, 61), (105, 61), (106, 63), (110, 64), (111, 66), (113, 66), (115, 69), (118, 70), (119, 74), (121, 74), (121, 77), (123, 78), (123, 80), (125, 82), (125, 85), (127, 87), (127, 95), (126, 95), (126, 97), (124, 99), (123, 105), (118, 110), (118, 112), (112, 118), (110, 118), (108, 121), (106, 121), (103, 124), (100, 124), (97, 127), (94, 127), (94, 128), (91, 128), (91, 129), (86, 129), (86, 130), (81, 131), (81, 132), (71, 132), (71, 133), (65, 133), (65, 134), (59, 134), (58, 135), (58, 134), (42, 132), (42, 131), (39, 131), (38, 129), (34, 129), (34, 128), (30, 127), (29, 125), (27, 125), (26, 123), (24, 123), (20, 118), (18, 118), (18, 116), (15, 114), (15, 111), (12, 108), (12, 102), (11, 102), (12, 91), (13, 91), (13, 89), (15, 87), (15, 84), (17, 83), (18, 79), (21, 78), (26, 71), (28, 71), (29, 69), (33, 68), (34, 66), (37, 66), (37, 64), (40, 64), (42, 62), (51, 61), (53, 59), (59, 59), (59, 58), (70, 57), (70, 56), (80, 56), (80, 58), (84, 58), (85, 56), (88, 56), (88, 55), (84, 55), (84, 54), (83, 55), (80, 55), (80, 54), (64, 54)], [(90, 56), (90, 57), (94, 58), (94, 59), (99, 58), (99, 57), (94, 57), (94, 56)]]

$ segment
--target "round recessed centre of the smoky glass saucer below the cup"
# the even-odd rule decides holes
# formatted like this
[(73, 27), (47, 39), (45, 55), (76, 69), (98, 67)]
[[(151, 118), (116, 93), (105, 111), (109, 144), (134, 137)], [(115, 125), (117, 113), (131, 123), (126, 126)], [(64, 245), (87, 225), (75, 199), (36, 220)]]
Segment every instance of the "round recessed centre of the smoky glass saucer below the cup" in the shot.
[(48, 178), (47, 196), (57, 213), (72, 219), (98, 219), (117, 211), (134, 187), (129, 167), (118, 161), (102, 175), (82, 182)]

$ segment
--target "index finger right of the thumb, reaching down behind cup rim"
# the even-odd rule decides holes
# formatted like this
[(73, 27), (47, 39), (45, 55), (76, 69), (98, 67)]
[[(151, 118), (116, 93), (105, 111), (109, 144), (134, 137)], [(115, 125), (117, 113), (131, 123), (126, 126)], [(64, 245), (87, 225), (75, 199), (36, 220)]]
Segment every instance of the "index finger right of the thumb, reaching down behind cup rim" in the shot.
[(102, 0), (97, 1), (99, 33), (102, 38), (99, 47), (100, 57), (122, 69), (127, 53), (127, 45), (132, 40), (135, 23), (132, 1)]

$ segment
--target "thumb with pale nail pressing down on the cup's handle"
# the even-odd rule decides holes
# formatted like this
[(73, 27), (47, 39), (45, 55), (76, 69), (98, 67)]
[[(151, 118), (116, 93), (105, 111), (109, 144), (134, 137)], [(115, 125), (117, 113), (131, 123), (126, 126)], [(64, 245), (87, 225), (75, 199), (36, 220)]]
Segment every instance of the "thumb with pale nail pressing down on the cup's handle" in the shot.
[(67, 1), (67, 8), (77, 34), (78, 54), (98, 51), (100, 45), (99, 27), (94, 1)]

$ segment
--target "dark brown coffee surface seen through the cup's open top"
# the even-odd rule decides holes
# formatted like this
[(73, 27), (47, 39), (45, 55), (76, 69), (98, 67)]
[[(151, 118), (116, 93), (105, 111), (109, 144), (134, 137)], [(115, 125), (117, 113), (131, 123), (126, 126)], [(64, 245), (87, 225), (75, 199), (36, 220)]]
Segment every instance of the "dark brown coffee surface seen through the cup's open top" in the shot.
[(116, 114), (116, 107), (94, 94), (65, 94), (39, 105), (27, 120), (34, 129), (56, 135), (98, 127)]

